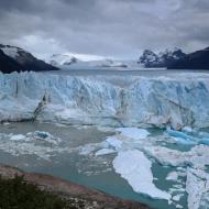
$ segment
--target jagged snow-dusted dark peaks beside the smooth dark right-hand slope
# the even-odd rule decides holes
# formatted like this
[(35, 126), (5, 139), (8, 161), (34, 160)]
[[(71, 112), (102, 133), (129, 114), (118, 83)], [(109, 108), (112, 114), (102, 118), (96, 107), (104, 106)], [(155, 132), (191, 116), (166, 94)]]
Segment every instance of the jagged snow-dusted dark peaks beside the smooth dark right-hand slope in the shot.
[(179, 48), (166, 50), (158, 54), (145, 50), (138, 63), (144, 67), (168, 67), (170, 63), (179, 61), (185, 56), (186, 54)]

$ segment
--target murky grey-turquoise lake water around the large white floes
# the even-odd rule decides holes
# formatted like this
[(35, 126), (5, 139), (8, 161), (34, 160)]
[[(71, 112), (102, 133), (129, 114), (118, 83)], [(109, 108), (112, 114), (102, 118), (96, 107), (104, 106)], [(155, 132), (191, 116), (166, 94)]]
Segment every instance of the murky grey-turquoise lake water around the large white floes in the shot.
[[(48, 140), (42, 139), (34, 140), (29, 136), (35, 131), (51, 133), (54, 139), (58, 139), (58, 143), (54, 143), (54, 141), (51, 143)], [(146, 131), (150, 132), (150, 144), (153, 143), (180, 152), (187, 152), (191, 147), (190, 145), (178, 145), (169, 140), (165, 141), (165, 130), (147, 129)], [(155, 186), (165, 191), (173, 188), (174, 196), (180, 195), (179, 200), (168, 204), (167, 200), (156, 200), (146, 195), (134, 193), (130, 184), (113, 168), (112, 162), (117, 152), (97, 156), (96, 153), (102, 148), (106, 139), (116, 135), (116, 130), (112, 128), (65, 127), (26, 122), (1, 124), (0, 133), (0, 163), (16, 166), (26, 172), (51, 174), (69, 179), (113, 196), (147, 204), (156, 209), (174, 209), (176, 206), (187, 208), (187, 194), (184, 190), (186, 177), (183, 175), (178, 182), (166, 179), (169, 173), (176, 170), (175, 167), (162, 165), (155, 158), (148, 157), (152, 161)], [(26, 140), (22, 139), (26, 135)], [(127, 142), (130, 146), (129, 150), (141, 148), (138, 143), (130, 143), (131, 141)], [(144, 139), (144, 146), (146, 143), (147, 140)]]

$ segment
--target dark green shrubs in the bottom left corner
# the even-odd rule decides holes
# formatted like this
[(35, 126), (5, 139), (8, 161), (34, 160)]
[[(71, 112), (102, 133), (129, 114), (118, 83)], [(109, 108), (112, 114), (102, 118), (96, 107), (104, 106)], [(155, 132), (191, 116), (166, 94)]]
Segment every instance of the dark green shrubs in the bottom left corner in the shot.
[(13, 179), (0, 177), (0, 209), (78, 209), (78, 207), (75, 202), (25, 183), (23, 177)]

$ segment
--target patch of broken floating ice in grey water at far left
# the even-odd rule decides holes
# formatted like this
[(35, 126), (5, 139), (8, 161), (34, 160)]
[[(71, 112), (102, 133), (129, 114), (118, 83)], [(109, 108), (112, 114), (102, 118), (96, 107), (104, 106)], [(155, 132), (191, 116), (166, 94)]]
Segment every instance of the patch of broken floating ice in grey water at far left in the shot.
[(58, 146), (61, 142), (61, 139), (41, 131), (30, 132), (25, 135), (0, 133), (0, 150), (14, 156), (35, 155), (38, 158), (50, 161), (55, 153), (73, 151)]

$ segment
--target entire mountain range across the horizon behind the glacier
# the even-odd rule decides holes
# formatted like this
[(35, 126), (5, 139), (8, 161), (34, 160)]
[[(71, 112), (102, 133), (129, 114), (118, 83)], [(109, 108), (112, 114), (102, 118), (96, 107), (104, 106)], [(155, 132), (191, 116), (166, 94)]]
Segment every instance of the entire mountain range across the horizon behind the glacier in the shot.
[(0, 72), (45, 72), (58, 69), (209, 69), (209, 47), (186, 54), (180, 48), (155, 53), (145, 50), (139, 61), (88, 61), (84, 62), (68, 54), (54, 54), (46, 63), (31, 53), (15, 46), (0, 44)]

